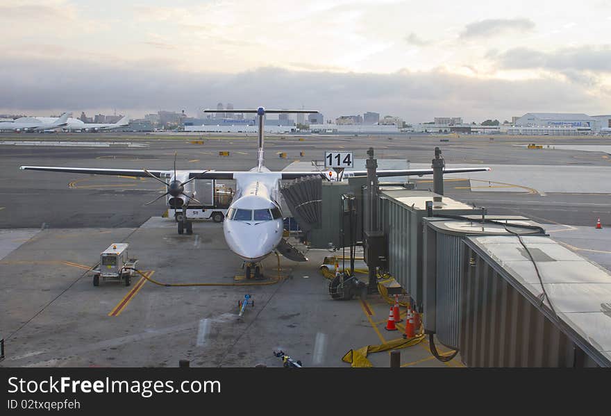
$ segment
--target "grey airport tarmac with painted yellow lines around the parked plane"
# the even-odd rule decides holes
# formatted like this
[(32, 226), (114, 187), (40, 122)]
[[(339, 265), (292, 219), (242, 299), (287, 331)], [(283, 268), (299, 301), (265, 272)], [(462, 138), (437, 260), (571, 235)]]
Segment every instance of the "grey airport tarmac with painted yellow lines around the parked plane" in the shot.
[[(133, 147), (84, 147), (83, 142), (129, 140)], [(303, 138), (301, 141), (299, 138)], [(261, 286), (167, 288), (136, 278), (131, 287), (108, 283), (94, 288), (87, 271), (112, 242), (129, 242), (140, 267), (159, 281), (174, 283), (241, 283), (240, 260), (226, 247), (222, 227), (194, 224), (194, 235), (178, 235), (171, 220), (158, 219), (162, 187), (149, 179), (24, 172), (19, 165), (170, 169), (174, 151), (178, 168), (248, 169), (256, 160), (254, 136), (219, 138), (207, 135), (0, 134), (0, 141), (36, 141), (0, 148), (0, 338), (6, 341), (3, 366), (169, 366), (188, 359), (194, 366), (280, 367), (273, 349), (284, 349), (307, 367), (347, 367), (341, 358), (368, 344), (399, 337), (384, 330), (388, 306), (378, 296), (365, 303), (333, 301), (327, 281), (317, 271), (328, 251), (310, 250), (308, 263), (266, 260), (272, 280)], [(45, 140), (78, 142), (78, 146), (45, 146)], [(272, 136), (266, 139), (266, 164), (272, 170), (295, 160), (322, 159), (325, 150), (354, 151), (365, 158), (374, 147), (378, 158), (430, 163), (440, 146), (446, 165), (529, 165), (535, 174), (558, 167), (608, 169), (604, 151), (526, 149), (513, 144), (533, 138), (489, 136), (440, 138)], [(610, 138), (544, 138), (546, 143), (588, 146)], [(203, 143), (193, 143), (203, 142)], [(221, 157), (219, 151), (230, 151)], [(304, 151), (305, 156), (299, 156)], [(286, 152), (287, 158), (278, 157)], [(605, 172), (604, 170), (601, 172)], [(583, 178), (571, 178), (571, 181)], [(605, 178), (600, 178), (604, 181)], [(611, 267), (609, 194), (517, 192), (472, 188), (467, 178), (446, 177), (446, 194), (489, 213), (525, 215), (545, 224), (550, 234), (581, 256)], [(592, 185), (589, 183), (588, 185)], [(500, 185), (499, 185), (500, 186)], [(419, 189), (432, 188), (430, 178), (417, 178)], [(603, 230), (594, 224), (600, 217)], [(152, 218), (152, 219), (151, 219)], [(238, 320), (237, 301), (251, 294), (255, 306)], [(126, 300), (127, 299), (127, 300)], [(387, 366), (388, 353), (369, 357)], [(460, 367), (455, 359), (441, 363), (422, 342), (401, 350), (409, 366)]]

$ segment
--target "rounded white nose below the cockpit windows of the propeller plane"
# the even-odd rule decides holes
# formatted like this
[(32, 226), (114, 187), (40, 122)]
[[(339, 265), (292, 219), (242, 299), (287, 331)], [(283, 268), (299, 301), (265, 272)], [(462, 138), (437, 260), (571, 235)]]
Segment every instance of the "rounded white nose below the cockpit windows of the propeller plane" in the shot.
[(283, 223), (280, 219), (265, 222), (225, 220), (225, 241), (229, 249), (246, 261), (259, 261), (267, 257), (282, 239)]

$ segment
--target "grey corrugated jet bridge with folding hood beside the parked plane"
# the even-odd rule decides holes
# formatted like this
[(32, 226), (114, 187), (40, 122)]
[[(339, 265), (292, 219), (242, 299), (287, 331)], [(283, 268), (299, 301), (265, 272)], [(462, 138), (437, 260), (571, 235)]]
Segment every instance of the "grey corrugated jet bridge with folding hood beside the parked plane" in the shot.
[(425, 332), (465, 365), (611, 367), (610, 272), (526, 217), (444, 197), (439, 156), (435, 192), (378, 185), (371, 176), (317, 176), (288, 183), (283, 195), (311, 248), (346, 245), (352, 224), (369, 285), (376, 269), (390, 274), (423, 313)]

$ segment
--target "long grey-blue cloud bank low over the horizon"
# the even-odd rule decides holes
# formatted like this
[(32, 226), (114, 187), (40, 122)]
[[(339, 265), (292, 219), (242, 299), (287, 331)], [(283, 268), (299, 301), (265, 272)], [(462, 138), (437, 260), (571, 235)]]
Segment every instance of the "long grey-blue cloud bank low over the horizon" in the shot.
[(301, 108), (303, 104), (328, 117), (376, 111), (410, 122), (435, 116), (482, 121), (509, 119), (526, 111), (596, 113), (605, 104), (581, 85), (555, 78), (480, 79), (442, 69), (346, 74), (267, 67), (220, 74), (179, 72), (151, 63), (125, 67), (78, 60), (15, 59), (4, 62), (0, 76), (5, 81), (0, 84), (0, 111), (15, 108), (37, 115), (113, 108), (137, 116), (159, 109), (184, 109), (195, 115), (197, 109), (215, 108), (221, 101), (253, 108)]

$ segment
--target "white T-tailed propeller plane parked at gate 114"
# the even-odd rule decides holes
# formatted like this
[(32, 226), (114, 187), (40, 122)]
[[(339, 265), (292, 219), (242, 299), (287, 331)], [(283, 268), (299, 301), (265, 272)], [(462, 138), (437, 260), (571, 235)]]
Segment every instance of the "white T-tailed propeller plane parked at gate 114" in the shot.
[[(206, 110), (216, 113), (217, 110)], [(246, 278), (251, 273), (260, 277), (260, 261), (273, 253), (283, 240), (283, 213), (281, 211), (281, 181), (303, 176), (320, 175), (330, 179), (326, 172), (271, 172), (265, 167), (263, 150), (263, 117), (266, 113), (317, 113), (309, 110), (233, 110), (234, 113), (256, 113), (258, 115), (257, 165), (249, 171), (216, 170), (148, 170), (148, 169), (99, 169), (95, 167), (51, 167), (22, 166), (22, 170), (69, 172), (74, 174), (101, 174), (125, 176), (151, 176), (167, 186), (167, 192), (157, 199), (169, 195), (170, 206), (180, 208), (194, 199), (188, 190), (195, 179), (234, 179), (235, 194), (223, 224), (225, 240), (231, 251), (244, 260)], [(445, 168), (444, 173), (477, 172), (488, 167)], [(367, 171), (351, 171), (350, 176), (366, 176)], [(430, 175), (433, 169), (378, 170), (378, 176)], [(169, 179), (168, 182), (162, 178)], [(190, 194), (187, 194), (190, 193)], [(151, 201), (154, 202), (157, 199)]]

